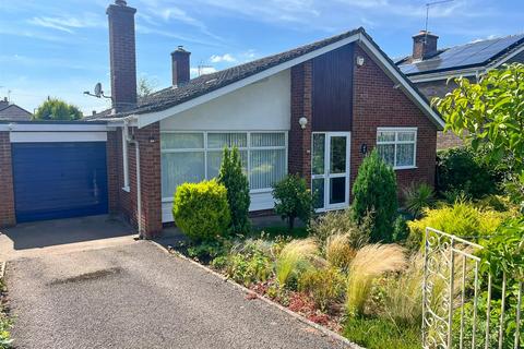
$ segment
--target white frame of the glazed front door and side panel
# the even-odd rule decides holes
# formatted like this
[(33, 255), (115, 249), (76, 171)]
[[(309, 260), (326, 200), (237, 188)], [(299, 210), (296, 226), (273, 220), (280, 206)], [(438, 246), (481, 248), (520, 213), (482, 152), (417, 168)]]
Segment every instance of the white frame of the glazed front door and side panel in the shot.
[[(313, 156), (313, 135), (324, 134), (324, 173), (313, 174), (313, 165), (311, 160), (311, 188), (313, 188), (313, 179), (324, 179), (324, 206), (315, 208), (315, 213), (323, 213), (336, 209), (344, 209), (349, 206), (349, 179), (350, 179), (350, 154), (352, 154), (352, 133), (350, 132), (312, 132), (311, 135), (311, 157)], [(334, 136), (346, 137), (346, 171), (344, 173), (330, 173), (331, 168), (331, 139)], [(330, 179), (332, 178), (345, 178), (346, 179), (346, 197), (343, 203), (330, 204)]]

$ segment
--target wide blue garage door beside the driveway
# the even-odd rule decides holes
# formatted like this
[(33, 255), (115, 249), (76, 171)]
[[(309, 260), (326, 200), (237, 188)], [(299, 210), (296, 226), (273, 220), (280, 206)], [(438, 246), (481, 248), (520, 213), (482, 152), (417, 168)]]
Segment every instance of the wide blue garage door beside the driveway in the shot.
[(16, 220), (107, 213), (105, 142), (13, 143)]

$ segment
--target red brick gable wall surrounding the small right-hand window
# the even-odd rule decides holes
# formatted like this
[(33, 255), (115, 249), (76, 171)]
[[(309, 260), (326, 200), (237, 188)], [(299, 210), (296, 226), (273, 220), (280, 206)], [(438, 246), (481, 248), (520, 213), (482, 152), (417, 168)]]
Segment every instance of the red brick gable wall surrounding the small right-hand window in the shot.
[(373, 60), (358, 46), (356, 56), (364, 56), (366, 62), (355, 68), (354, 75), (354, 120), (352, 132), (350, 183), (353, 185), (362, 163), (360, 146), (368, 145), (371, 152), (377, 143), (377, 128), (416, 127), (416, 169), (396, 170), (398, 186), (410, 182), (425, 181), (434, 184), (437, 128), (420, 109), (412, 103), (401, 88), (393, 83)]

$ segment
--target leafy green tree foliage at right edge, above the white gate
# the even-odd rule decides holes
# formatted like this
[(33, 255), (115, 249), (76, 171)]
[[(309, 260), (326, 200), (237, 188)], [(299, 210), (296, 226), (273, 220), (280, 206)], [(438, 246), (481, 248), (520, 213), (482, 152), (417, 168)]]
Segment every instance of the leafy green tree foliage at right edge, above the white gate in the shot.
[(446, 129), (471, 141), (474, 151), (505, 172), (513, 196), (524, 198), (524, 64), (491, 70), (478, 83), (455, 79), (457, 87), (433, 104)]

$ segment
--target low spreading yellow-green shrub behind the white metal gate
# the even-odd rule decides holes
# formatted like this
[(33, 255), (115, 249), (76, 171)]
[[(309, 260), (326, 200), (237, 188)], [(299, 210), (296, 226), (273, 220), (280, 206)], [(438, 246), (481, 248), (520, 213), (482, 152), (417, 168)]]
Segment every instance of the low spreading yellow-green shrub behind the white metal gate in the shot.
[(431, 227), (446, 233), (476, 240), (478, 237), (490, 236), (511, 213), (500, 213), (491, 209), (483, 210), (472, 203), (457, 202), (436, 209), (426, 209), (425, 218), (409, 221), (409, 244), (419, 246), (426, 231)]

